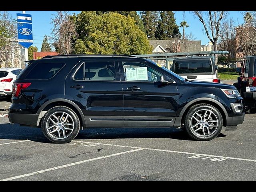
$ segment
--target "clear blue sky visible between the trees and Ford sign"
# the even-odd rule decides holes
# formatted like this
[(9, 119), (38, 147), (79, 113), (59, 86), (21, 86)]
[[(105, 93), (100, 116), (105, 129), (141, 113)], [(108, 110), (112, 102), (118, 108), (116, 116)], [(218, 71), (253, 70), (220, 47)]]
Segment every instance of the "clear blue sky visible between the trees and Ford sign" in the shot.
[[(22, 13), (22, 11), (8, 11), (13, 18), (16, 18), (16, 13)], [(71, 13), (78, 14), (80, 11), (70, 11)], [(26, 11), (26, 14), (32, 15), (32, 31), (34, 43), (32, 46), (36, 46), (38, 51), (41, 50), (42, 41), (44, 35), (51, 36), (51, 29), (53, 24), (51, 18), (54, 18), (55, 11)], [(185, 28), (186, 33), (192, 32), (195, 40), (201, 40), (201, 44), (208, 44), (210, 41), (204, 32), (203, 25), (198, 18), (194, 17), (194, 14), (190, 11), (174, 11), (174, 17), (176, 18), (176, 24), (180, 25), (182, 20), (185, 20), (189, 27)], [(233, 18), (236, 25), (243, 23), (242, 11), (229, 11), (228, 18)], [(182, 28), (180, 28), (182, 33)]]

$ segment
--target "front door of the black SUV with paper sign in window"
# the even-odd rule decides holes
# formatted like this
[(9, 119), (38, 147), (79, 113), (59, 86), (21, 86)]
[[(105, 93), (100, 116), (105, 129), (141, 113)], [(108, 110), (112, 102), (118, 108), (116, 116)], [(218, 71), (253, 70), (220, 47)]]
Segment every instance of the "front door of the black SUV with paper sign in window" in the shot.
[(165, 75), (143, 60), (118, 60), (124, 90), (126, 127), (171, 127), (177, 112), (177, 86), (160, 83)]

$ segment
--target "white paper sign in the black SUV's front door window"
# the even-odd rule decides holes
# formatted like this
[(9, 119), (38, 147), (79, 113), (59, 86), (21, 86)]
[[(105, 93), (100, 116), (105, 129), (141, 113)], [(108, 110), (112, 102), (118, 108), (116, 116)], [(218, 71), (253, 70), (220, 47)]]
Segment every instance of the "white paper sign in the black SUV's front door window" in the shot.
[(148, 80), (147, 67), (126, 68), (126, 81)]

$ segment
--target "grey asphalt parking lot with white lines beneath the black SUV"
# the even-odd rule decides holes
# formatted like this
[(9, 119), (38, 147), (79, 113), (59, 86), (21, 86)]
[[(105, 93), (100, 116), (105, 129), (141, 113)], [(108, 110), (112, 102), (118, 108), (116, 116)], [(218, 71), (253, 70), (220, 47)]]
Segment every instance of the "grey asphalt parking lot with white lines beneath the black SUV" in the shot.
[(0, 181), (256, 180), (255, 124), (256, 114), (246, 114), (238, 130), (207, 142), (175, 128), (91, 128), (52, 144), (40, 128), (1, 116)]

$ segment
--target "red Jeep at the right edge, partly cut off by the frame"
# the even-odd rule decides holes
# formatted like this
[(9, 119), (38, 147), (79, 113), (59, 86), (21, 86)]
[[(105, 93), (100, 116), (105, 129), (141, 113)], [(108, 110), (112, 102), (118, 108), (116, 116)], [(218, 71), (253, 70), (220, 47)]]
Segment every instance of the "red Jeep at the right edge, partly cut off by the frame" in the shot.
[(244, 58), (241, 68), (241, 76), (237, 78), (238, 82), (233, 85), (244, 98), (247, 106), (247, 113), (256, 108), (256, 56)]

